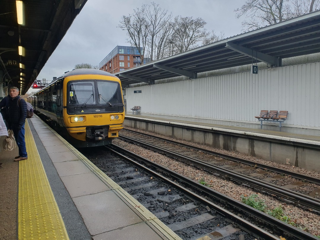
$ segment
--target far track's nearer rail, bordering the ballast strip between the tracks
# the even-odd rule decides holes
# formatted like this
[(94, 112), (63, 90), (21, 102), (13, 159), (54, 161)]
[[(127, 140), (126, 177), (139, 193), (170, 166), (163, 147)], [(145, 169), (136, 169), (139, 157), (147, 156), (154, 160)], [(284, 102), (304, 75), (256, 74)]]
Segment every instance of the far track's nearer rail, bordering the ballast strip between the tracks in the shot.
[(176, 153), (172, 150), (167, 150), (165, 148), (155, 146), (150, 143), (146, 143), (146, 142), (136, 140), (136, 139), (126, 137), (126, 136), (121, 136), (120, 138), (125, 139), (130, 142), (140, 144), (142, 146), (146, 146), (147, 148), (156, 150), (158, 152), (162, 152), (163, 154), (165, 154), (167, 156), (171, 156), (173, 158), (183, 159), (185, 161), (188, 161), (190, 164), (199, 166), (201, 168), (209, 169), (210, 171), (215, 172), (215, 173), (219, 173), (223, 176), (228, 176), (230, 178), (230, 180), (240, 181), (244, 184), (261, 189), (262, 191), (266, 191), (271, 194), (281, 196), (281, 197), (283, 197), (287, 200), (290, 200), (292, 202), (295, 202), (297, 204), (301, 204), (301, 205), (307, 206), (311, 209), (315, 209), (317, 211), (320, 211), (320, 203), (319, 203), (320, 200), (312, 198), (310, 196), (307, 196), (307, 195), (304, 195), (304, 194), (301, 194), (298, 192), (294, 192), (292, 190), (285, 189), (285, 188), (276, 186), (276, 185), (268, 183), (268, 182), (264, 182), (262, 180), (259, 180), (259, 179), (253, 178), (253, 177), (249, 177), (249, 176), (243, 175), (241, 173), (232, 172), (231, 170), (224, 169), (219, 166), (212, 165), (212, 164), (208, 164), (206, 162), (195, 159), (193, 157), (188, 157), (188, 156)]

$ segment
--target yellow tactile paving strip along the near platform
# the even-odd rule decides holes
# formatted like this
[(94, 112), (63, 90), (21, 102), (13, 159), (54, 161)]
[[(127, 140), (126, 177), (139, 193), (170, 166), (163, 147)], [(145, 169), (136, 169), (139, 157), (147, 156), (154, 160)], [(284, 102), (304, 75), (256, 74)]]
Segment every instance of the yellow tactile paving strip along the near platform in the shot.
[(18, 239), (68, 240), (68, 233), (26, 121), (28, 160), (19, 163)]

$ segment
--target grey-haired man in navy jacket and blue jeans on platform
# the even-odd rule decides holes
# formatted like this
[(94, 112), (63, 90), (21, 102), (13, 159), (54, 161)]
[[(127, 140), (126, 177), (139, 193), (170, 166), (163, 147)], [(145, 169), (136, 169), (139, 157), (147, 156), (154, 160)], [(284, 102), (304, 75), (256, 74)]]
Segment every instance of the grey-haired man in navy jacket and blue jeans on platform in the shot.
[(9, 129), (12, 129), (16, 139), (19, 156), (14, 158), (14, 161), (28, 159), (26, 141), (24, 138), (24, 124), (27, 117), (27, 103), (19, 96), (17, 87), (9, 88), (9, 95), (0, 102), (0, 108), (5, 107), (5, 120)]

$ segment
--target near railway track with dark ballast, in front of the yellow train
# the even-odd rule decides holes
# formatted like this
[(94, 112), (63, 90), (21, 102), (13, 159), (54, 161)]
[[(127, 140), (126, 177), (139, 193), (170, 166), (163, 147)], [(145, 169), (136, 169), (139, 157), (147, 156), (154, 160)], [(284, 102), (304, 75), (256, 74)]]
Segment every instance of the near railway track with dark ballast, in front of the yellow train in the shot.
[(100, 151), (83, 154), (183, 239), (317, 239), (123, 148)]

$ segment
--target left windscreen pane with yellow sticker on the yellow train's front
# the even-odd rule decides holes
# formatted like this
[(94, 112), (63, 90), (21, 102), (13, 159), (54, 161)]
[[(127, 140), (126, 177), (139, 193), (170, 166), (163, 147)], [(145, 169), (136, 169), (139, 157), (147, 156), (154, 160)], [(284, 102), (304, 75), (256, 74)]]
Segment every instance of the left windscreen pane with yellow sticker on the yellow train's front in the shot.
[(68, 104), (95, 104), (94, 81), (69, 82)]

